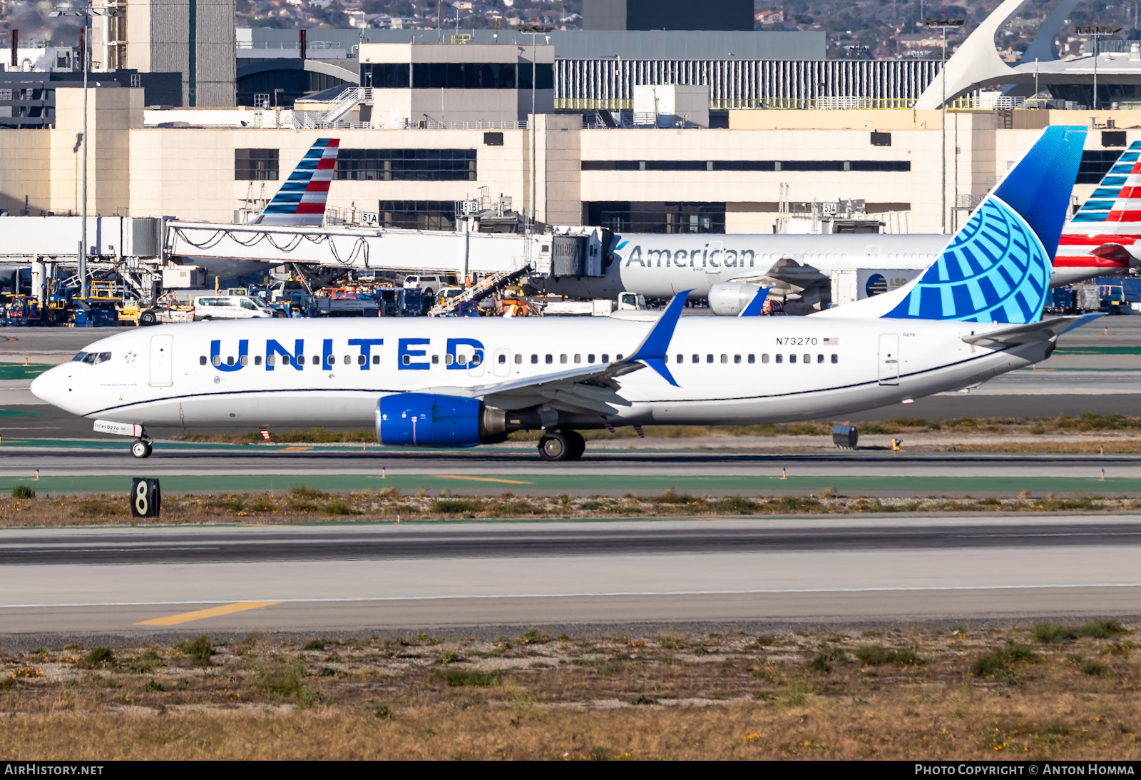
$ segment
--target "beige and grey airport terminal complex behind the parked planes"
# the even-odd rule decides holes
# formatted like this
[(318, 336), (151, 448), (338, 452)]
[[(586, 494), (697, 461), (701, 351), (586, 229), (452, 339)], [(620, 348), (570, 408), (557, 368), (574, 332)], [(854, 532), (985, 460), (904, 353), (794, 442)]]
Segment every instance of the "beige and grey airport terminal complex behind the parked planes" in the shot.
[[(955, 102), (946, 113), (938, 62), (828, 61), (815, 32), (238, 30), (236, 70), (227, 72), (205, 54), (225, 38), (207, 22), (185, 51), (194, 67), (171, 65), (184, 74), (184, 102), (156, 107), (130, 69), (147, 56), (152, 67), (160, 62), (169, 31), (155, 19), (181, 30), (191, 16), (177, 2), (162, 10), (170, 16), (128, 2), (126, 27), (108, 27), (100, 49), (100, 66), (127, 75), (91, 90), (89, 206), (245, 222), (315, 139), (337, 137), (334, 220), (377, 214), (381, 225), (450, 228), (458, 202), (510, 199), (544, 225), (769, 233), (825, 230), (825, 217), (847, 204), (884, 231), (931, 233), (961, 224), (1037, 130), (1057, 123), (1097, 130), (1074, 191), (1082, 202), (1141, 138), (1124, 129), (1141, 127), (1141, 113), (1122, 103), (1067, 111), (1013, 94), (980, 97), (980, 78), (1027, 78), (1022, 65), (1001, 70), (979, 55), (982, 73), (962, 57), (972, 46), (994, 55), (987, 30), (1013, 13), (1011, 2), (948, 61)], [(195, 19), (213, 18), (212, 8), (185, 6)], [(132, 39), (136, 23), (151, 32)], [(126, 48), (116, 48), (120, 34)], [(132, 54), (132, 41), (151, 55)], [(1141, 55), (1115, 62), (1099, 90), (1125, 83), (1130, 69), (1141, 73)], [(1037, 73), (1045, 88), (1084, 83), (1084, 66), (1053, 67), (1060, 75)], [(224, 82), (228, 102), (216, 91), (207, 103), (205, 85)], [(38, 124), (5, 130), (0, 214), (79, 209), (82, 94), (52, 93)]]

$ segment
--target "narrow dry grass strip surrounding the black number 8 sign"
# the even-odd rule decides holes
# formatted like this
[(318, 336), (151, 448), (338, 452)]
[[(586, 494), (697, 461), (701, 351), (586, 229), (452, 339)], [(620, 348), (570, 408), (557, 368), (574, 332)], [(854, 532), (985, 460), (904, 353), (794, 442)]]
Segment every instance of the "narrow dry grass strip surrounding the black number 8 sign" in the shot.
[(867, 498), (842, 496), (834, 488), (808, 496), (690, 496), (673, 490), (659, 496), (453, 496), (446, 490), (400, 496), (395, 489), (327, 493), (293, 488), (284, 493), (171, 493), (163, 496), (162, 517), (146, 521), (129, 516), (126, 496), (0, 497), (0, 528), (1135, 509), (1141, 509), (1141, 498), (1035, 497), (1029, 491), (1010, 498)]

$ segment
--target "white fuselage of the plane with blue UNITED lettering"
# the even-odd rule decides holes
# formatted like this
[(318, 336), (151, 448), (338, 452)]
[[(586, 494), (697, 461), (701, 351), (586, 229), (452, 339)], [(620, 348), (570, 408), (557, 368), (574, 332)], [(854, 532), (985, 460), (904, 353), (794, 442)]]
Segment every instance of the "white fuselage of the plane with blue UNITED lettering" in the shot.
[[(653, 320), (612, 317), (249, 320), (100, 339), (32, 391), (92, 419), (145, 426), (367, 426), (381, 396), (456, 394), (629, 357)], [(994, 351), (962, 337), (1000, 324), (840, 317), (682, 317), (666, 365), (620, 379), (629, 407), (560, 424), (756, 424), (844, 415), (961, 388), (1039, 362), (1050, 345)], [(529, 393), (531, 391), (528, 391)], [(545, 404), (536, 387), (484, 397)], [(483, 397), (483, 396), (482, 396)]]

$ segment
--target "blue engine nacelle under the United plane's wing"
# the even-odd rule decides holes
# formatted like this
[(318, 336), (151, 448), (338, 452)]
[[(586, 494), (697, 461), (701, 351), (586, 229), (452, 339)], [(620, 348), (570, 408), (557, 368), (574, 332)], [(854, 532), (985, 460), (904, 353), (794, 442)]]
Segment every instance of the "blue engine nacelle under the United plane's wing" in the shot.
[(552, 411), (507, 412), (476, 399), (396, 393), (377, 404), (377, 441), (411, 447), (472, 447), (507, 440), (512, 431), (548, 428)]

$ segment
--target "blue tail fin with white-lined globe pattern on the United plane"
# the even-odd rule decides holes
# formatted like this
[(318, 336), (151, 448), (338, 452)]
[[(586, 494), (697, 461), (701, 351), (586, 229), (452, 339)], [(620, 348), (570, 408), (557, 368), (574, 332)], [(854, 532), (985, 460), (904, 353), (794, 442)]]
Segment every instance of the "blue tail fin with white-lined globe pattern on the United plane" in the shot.
[(922, 275), (810, 316), (1037, 322), (1084, 144), (1083, 127), (1045, 128)]

